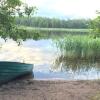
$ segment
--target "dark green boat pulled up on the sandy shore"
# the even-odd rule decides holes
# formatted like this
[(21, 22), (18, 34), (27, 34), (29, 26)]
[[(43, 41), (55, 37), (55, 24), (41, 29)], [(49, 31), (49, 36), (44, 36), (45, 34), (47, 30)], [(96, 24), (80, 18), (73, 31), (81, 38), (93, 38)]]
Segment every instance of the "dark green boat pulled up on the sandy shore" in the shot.
[(32, 64), (19, 62), (0, 62), (0, 84), (8, 82), (12, 79), (31, 73), (33, 70)]

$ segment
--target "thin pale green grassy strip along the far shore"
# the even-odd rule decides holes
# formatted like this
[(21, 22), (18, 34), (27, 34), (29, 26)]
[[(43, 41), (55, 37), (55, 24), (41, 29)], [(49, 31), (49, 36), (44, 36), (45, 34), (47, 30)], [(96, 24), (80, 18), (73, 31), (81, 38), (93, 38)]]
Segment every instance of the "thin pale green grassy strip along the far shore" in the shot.
[(21, 29), (26, 29), (29, 31), (36, 31), (38, 33), (66, 33), (66, 34), (88, 34), (91, 29), (66, 29), (66, 28), (33, 28), (20, 26)]

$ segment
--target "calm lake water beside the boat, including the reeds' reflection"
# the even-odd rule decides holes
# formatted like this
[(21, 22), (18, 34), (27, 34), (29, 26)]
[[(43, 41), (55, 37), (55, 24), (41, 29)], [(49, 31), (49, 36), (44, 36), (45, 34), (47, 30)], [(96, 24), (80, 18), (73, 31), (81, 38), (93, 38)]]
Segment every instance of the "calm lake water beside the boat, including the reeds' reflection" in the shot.
[(61, 59), (53, 39), (22, 41), (0, 38), (0, 61), (34, 64), (34, 79), (89, 80), (100, 78), (100, 61)]

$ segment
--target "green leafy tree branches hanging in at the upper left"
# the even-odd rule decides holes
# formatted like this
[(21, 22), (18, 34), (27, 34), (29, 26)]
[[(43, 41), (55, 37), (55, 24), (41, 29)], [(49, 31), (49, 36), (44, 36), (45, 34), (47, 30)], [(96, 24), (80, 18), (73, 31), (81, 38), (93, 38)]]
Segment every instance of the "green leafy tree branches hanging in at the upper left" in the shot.
[[(12, 37), (16, 40), (16, 38), (19, 38), (18, 34), (26, 32), (19, 30), (15, 25), (15, 16), (18, 14), (22, 17), (25, 14), (25, 11), (23, 12), (21, 9), (21, 5), (20, 0), (0, 0), (0, 36), (4, 38)], [(27, 9), (29, 10), (28, 16), (35, 10), (34, 7), (28, 7)]]

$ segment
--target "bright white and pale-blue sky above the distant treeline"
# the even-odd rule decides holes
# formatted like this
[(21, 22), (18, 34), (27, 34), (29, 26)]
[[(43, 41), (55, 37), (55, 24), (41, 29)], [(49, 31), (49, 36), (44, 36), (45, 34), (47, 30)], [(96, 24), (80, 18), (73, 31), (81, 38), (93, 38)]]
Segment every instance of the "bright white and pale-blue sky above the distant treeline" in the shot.
[(37, 16), (55, 18), (95, 18), (100, 0), (24, 0), (38, 8)]

